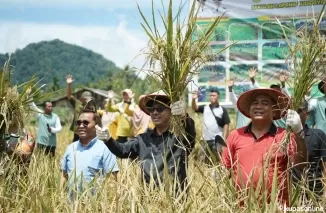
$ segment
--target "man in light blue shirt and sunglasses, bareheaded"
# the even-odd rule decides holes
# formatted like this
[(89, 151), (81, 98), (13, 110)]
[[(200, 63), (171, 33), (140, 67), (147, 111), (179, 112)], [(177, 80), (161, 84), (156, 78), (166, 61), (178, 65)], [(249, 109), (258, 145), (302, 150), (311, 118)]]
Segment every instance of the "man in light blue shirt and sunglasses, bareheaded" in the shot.
[(90, 111), (79, 116), (75, 122), (79, 140), (67, 147), (62, 159), (61, 187), (68, 181), (71, 199), (74, 193), (80, 194), (87, 189), (91, 189), (93, 194), (94, 185), (90, 183), (94, 178), (103, 180), (111, 173), (116, 176), (119, 171), (115, 155), (96, 137), (97, 117)]

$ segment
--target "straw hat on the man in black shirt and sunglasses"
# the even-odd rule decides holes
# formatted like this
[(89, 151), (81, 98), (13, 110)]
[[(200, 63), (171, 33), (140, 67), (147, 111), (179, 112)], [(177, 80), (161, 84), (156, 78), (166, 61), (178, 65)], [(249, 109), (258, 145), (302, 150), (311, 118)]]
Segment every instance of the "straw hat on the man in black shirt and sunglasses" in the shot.
[(169, 106), (171, 102), (170, 97), (167, 96), (162, 90), (151, 93), (149, 95), (144, 95), (139, 99), (139, 108), (143, 110), (147, 115), (149, 115), (149, 111), (147, 110), (147, 103), (151, 100), (165, 104), (167, 106)]

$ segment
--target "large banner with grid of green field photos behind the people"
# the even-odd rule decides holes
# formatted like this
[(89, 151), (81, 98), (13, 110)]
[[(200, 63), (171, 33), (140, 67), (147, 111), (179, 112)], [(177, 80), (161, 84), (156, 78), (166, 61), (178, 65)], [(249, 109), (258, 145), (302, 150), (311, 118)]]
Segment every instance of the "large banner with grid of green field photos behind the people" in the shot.
[[(205, 31), (213, 18), (222, 18), (210, 43), (214, 57), (200, 69), (189, 90), (199, 92), (199, 104), (207, 104), (209, 90), (217, 88), (221, 104), (231, 106), (227, 90), (229, 79), (235, 81), (234, 91), (239, 95), (250, 88), (250, 68), (257, 69), (255, 79), (260, 87), (278, 84), (279, 74), (288, 73), (284, 35), (294, 42), (295, 30), (309, 26), (312, 18), (318, 18), (324, 0), (196, 0), (196, 4), (200, 11), (193, 39)], [(288, 27), (287, 30), (282, 31), (280, 24)], [(320, 30), (326, 35), (326, 18)], [(317, 86), (311, 94), (321, 95)]]

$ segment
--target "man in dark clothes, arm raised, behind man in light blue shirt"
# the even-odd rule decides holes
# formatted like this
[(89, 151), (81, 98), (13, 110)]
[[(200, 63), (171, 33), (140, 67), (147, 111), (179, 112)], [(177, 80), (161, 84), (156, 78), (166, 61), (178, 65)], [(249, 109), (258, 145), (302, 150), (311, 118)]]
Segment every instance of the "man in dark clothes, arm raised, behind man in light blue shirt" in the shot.
[(89, 91), (84, 91), (80, 97), (80, 99), (76, 99), (71, 92), (71, 84), (74, 80), (72, 79), (72, 75), (68, 75), (66, 77), (66, 82), (67, 82), (67, 90), (66, 90), (66, 95), (67, 99), (70, 101), (72, 107), (74, 108), (74, 118), (70, 126), (70, 130), (74, 132), (74, 138), (72, 142), (78, 141), (79, 136), (76, 133), (76, 125), (75, 121), (79, 118), (80, 114), (82, 113), (83, 110), (88, 110), (92, 112), (96, 112), (96, 105), (95, 102), (93, 101), (92, 93)]

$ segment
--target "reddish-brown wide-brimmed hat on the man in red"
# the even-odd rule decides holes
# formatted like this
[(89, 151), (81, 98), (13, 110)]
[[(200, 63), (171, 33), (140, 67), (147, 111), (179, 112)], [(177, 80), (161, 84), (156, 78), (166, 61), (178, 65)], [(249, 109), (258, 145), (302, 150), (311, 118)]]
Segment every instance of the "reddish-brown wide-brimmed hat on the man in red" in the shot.
[(246, 117), (250, 118), (250, 104), (252, 98), (258, 94), (268, 95), (277, 103), (272, 107), (273, 111), (275, 111), (273, 120), (280, 119), (282, 117), (282, 112), (288, 109), (289, 97), (284, 93), (275, 89), (252, 89), (242, 93), (237, 101), (238, 110)]

